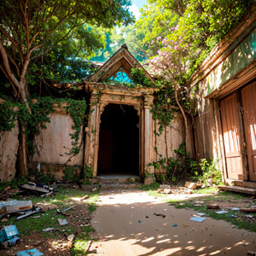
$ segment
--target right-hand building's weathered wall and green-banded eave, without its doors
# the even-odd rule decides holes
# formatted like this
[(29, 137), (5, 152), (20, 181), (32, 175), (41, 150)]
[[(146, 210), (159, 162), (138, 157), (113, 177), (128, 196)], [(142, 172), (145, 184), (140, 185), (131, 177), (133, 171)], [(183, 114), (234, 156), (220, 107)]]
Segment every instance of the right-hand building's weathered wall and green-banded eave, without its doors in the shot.
[[(224, 172), (224, 149), (218, 102), (239, 89), (246, 78), (253, 79), (251, 68), (256, 57), (255, 9), (218, 44), (191, 79), (191, 96), (196, 102), (194, 120), (196, 159), (219, 160)], [(196, 87), (195, 87), (196, 86)]]

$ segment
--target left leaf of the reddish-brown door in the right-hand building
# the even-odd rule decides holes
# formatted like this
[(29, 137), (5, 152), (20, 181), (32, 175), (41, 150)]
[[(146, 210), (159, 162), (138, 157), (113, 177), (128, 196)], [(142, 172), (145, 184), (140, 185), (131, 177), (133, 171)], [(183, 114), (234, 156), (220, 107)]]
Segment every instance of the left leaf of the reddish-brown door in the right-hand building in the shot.
[(236, 93), (220, 102), (224, 138), (224, 152), (227, 163), (227, 177), (242, 179), (240, 133)]

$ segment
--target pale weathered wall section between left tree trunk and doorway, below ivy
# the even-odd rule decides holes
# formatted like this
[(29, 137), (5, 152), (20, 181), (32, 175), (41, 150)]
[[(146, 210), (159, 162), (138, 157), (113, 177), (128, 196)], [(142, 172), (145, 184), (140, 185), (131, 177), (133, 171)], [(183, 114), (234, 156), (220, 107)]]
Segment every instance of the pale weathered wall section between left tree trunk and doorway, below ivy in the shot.
[[(67, 166), (83, 166), (84, 143), (81, 144), (80, 152), (70, 158), (69, 153), (72, 148), (72, 142), (69, 134), (73, 134), (73, 119), (66, 113), (55, 112), (50, 117), (50, 123), (46, 123), (46, 129), (40, 131), (38, 137), (35, 138), (34, 145), (36, 154), (33, 156), (32, 168), (36, 168), (38, 162), (42, 171), (49, 171), (56, 178), (64, 176), (63, 165)], [(80, 141), (82, 137), (82, 129), (80, 132)]]

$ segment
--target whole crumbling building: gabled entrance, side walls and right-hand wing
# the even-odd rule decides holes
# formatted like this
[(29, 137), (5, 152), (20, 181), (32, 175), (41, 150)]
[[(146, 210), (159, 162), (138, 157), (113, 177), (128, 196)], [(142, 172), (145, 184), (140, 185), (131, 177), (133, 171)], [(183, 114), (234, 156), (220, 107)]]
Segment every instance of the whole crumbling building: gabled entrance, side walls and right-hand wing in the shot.
[[(225, 183), (250, 185), (256, 182), (256, 19), (251, 9), (244, 20), (218, 44), (192, 76), (190, 88), (198, 88), (197, 116), (190, 132), (190, 155), (218, 159)], [(96, 73), (79, 84), (80, 93), (90, 96), (90, 118), (86, 138), (69, 166), (90, 165), (93, 175), (107, 173), (142, 177), (151, 183), (155, 172), (150, 164), (158, 155), (172, 157), (183, 143), (183, 119), (177, 113), (160, 136), (154, 134), (157, 120), (152, 118), (154, 88), (128, 88), (119, 81), (131, 81), (131, 68), (140, 67), (125, 45)], [(104, 83), (105, 79), (113, 80)], [(73, 120), (63, 108), (55, 106), (47, 128), (35, 138), (38, 150), (32, 167), (63, 177)], [(15, 177), (18, 125), (1, 131), (0, 177)], [(82, 132), (82, 131), (81, 131)], [(154, 148), (158, 148), (156, 154)], [(149, 175), (146, 175), (149, 174)], [(151, 175), (150, 175), (151, 174)]]

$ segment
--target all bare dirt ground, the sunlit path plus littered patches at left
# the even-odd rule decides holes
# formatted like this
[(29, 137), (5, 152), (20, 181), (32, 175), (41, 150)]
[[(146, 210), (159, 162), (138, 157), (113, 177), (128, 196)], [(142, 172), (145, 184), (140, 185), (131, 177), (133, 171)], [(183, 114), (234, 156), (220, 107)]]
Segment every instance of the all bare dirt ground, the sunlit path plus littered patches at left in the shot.
[[(200, 203), (205, 195), (166, 195), (165, 200), (195, 200)], [(256, 233), (238, 230), (223, 220), (208, 218), (202, 223), (189, 218), (195, 215), (191, 209), (177, 209), (163, 201), (163, 197), (148, 195), (139, 189), (102, 190), (92, 216), (86, 204), (76, 201), (76, 207), (68, 217), (76, 232), (84, 225), (92, 224), (96, 232), (90, 232), (87, 251), (98, 256), (143, 255), (247, 255), (256, 251)], [(249, 201), (218, 201), (221, 208), (248, 207)], [(83, 222), (80, 222), (84, 219)], [(253, 221), (255, 221), (253, 219)], [(49, 227), (45, 227), (49, 228)], [(32, 231), (20, 237), (20, 244), (0, 255), (37, 248), (44, 255), (71, 255), (67, 248), (67, 236), (60, 229), (53, 230), (52, 237)]]

